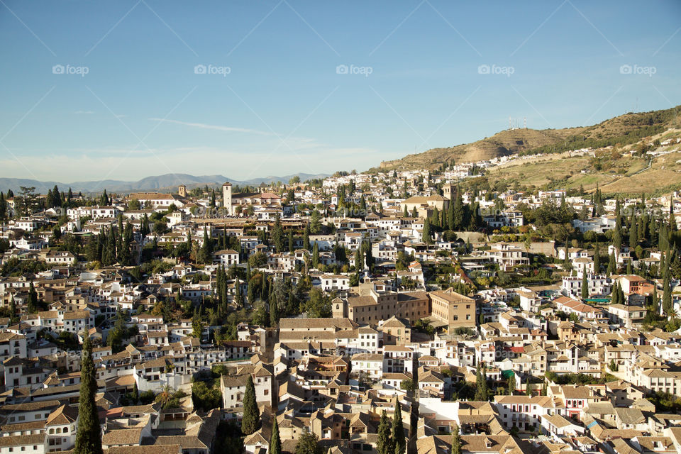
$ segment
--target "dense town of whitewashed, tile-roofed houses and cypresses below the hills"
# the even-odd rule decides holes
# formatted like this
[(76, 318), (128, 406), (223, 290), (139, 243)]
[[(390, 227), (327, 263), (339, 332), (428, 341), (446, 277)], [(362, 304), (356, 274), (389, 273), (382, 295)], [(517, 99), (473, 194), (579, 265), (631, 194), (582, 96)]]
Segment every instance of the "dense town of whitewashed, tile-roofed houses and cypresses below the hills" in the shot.
[(681, 452), (681, 195), (507, 161), (1, 192), (0, 453)]

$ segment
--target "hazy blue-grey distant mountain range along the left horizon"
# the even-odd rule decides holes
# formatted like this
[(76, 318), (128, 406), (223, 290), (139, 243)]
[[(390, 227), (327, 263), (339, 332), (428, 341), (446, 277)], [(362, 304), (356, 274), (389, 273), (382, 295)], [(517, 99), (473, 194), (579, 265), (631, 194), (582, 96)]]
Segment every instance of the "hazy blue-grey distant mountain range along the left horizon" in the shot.
[(46, 181), (41, 182), (36, 179), (23, 179), (23, 178), (0, 178), (0, 191), (5, 192), (7, 189), (12, 189), (13, 192), (18, 192), (19, 187), (35, 187), (35, 191), (45, 194), (48, 189), (52, 189), (55, 185), (60, 189), (60, 191), (66, 191), (69, 188), (73, 192), (102, 192), (106, 189), (106, 192), (117, 192), (117, 193), (127, 193), (135, 191), (158, 191), (158, 192), (169, 192), (176, 191), (180, 184), (185, 184), (187, 188), (192, 189), (197, 186), (221, 186), (224, 182), (231, 182), (232, 184), (238, 184), (240, 186), (258, 186), (261, 183), (270, 184), (273, 182), (289, 182), (293, 177), (299, 177), (301, 182), (307, 179), (313, 178), (326, 178), (328, 175), (319, 174), (311, 175), (306, 173), (298, 173), (294, 175), (286, 175), (284, 177), (265, 177), (265, 178), (253, 178), (244, 181), (239, 181), (236, 179), (231, 179), (225, 177), (224, 175), (203, 175), (196, 177), (194, 175), (187, 175), (182, 173), (169, 173), (165, 175), (157, 175), (155, 177), (145, 177), (136, 182), (126, 182), (116, 179), (105, 179), (103, 181), (85, 181), (85, 182), (72, 182), (72, 183), (61, 183)]

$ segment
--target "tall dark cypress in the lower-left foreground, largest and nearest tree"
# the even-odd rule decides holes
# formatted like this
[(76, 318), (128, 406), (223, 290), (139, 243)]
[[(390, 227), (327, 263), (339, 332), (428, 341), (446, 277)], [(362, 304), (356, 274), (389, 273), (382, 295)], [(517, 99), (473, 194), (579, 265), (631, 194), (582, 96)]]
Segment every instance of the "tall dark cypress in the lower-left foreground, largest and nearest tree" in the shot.
[(76, 454), (101, 454), (101, 428), (95, 404), (97, 394), (96, 370), (92, 360), (92, 341), (85, 336), (80, 365), (80, 395), (78, 399), (78, 431)]

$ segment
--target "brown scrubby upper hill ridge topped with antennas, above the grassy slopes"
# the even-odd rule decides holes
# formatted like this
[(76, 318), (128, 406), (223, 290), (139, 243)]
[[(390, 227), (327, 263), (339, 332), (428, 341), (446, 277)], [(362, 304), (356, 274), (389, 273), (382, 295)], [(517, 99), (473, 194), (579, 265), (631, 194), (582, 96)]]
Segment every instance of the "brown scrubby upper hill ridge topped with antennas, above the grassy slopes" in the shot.
[(624, 114), (592, 126), (501, 131), (477, 142), (433, 148), (399, 160), (384, 161), (379, 170), (434, 168), (443, 163), (475, 162), (513, 154), (560, 153), (589, 146), (627, 145), (668, 128), (681, 126), (677, 116), (680, 107)]

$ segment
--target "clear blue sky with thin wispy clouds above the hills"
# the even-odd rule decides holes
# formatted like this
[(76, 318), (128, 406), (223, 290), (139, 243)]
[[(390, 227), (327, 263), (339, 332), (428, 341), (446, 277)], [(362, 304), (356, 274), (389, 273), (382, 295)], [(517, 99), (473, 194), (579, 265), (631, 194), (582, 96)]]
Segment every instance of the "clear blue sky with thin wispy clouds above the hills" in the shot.
[(677, 0), (1, 0), (0, 177), (366, 170), (509, 116), (666, 109), (680, 19)]

